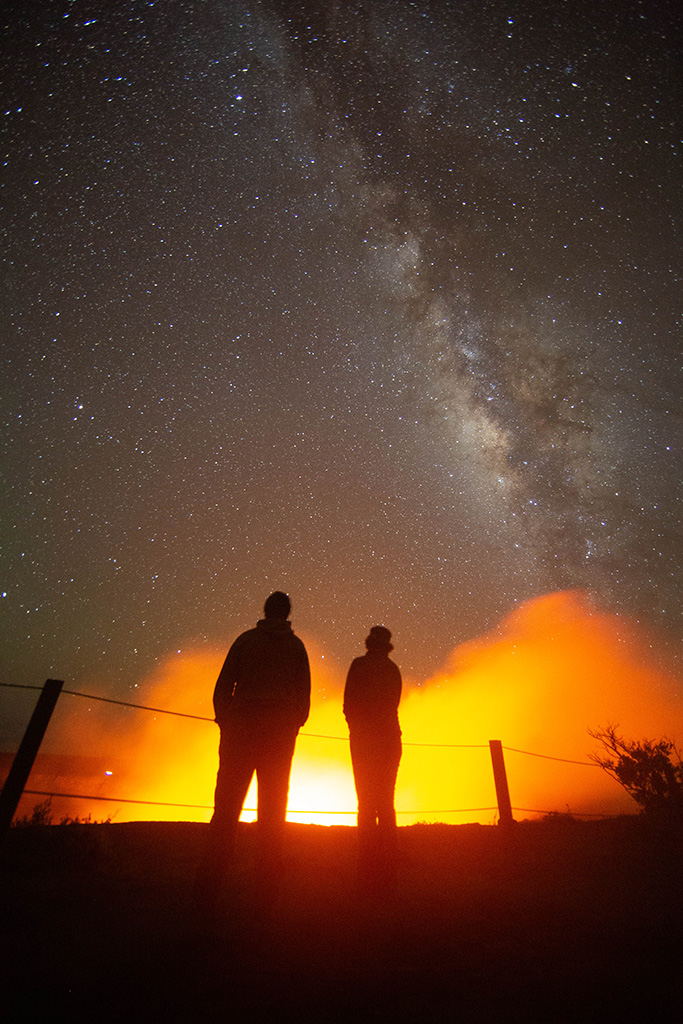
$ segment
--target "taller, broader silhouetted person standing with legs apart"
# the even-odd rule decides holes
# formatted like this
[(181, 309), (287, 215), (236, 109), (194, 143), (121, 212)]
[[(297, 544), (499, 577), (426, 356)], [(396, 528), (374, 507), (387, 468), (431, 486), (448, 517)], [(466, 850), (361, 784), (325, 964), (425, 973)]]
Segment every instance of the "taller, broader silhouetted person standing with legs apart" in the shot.
[(310, 670), (306, 648), (288, 621), (287, 594), (275, 591), (263, 610), (265, 617), (228, 650), (213, 695), (220, 726), (219, 766), (197, 886), (198, 898), (207, 905), (217, 900), (229, 868), (254, 772), (263, 881), (274, 881), (280, 870), (292, 758), (310, 708)]

